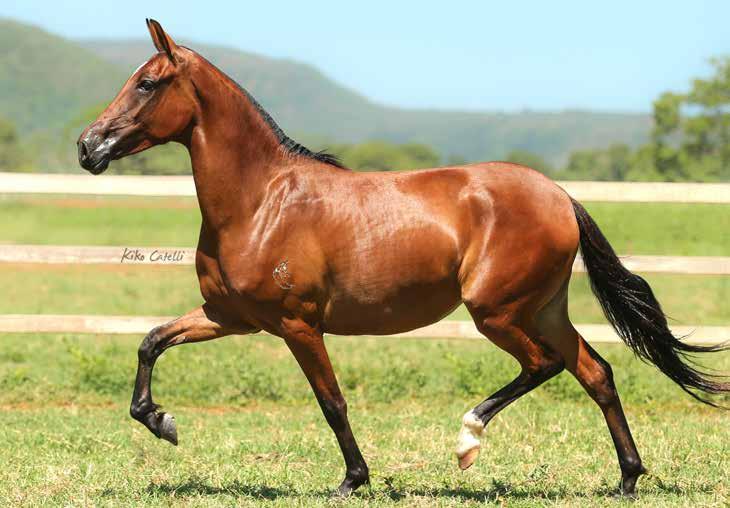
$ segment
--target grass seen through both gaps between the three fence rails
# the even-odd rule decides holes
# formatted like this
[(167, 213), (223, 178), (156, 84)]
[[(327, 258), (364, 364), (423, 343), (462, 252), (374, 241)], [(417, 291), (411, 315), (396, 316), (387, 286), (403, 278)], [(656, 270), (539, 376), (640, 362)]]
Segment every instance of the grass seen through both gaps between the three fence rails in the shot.
[[(730, 206), (590, 203), (616, 250), (625, 254), (730, 255)], [(0, 242), (193, 246), (194, 198), (3, 196)], [(200, 303), (192, 267), (0, 265), (3, 313), (176, 315)], [(678, 324), (730, 321), (730, 277), (649, 274)], [(63, 295), (73, 294), (73, 298)], [(59, 296), (60, 295), (60, 296)], [(571, 284), (576, 322), (600, 322), (586, 278)], [(460, 308), (452, 319), (468, 319)]]

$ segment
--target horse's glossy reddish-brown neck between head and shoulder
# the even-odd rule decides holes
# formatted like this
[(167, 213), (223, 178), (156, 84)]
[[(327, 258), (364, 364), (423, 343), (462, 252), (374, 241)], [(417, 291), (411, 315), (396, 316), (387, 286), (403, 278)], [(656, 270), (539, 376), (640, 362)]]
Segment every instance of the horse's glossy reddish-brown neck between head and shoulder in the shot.
[(286, 156), (235, 83), (210, 64), (196, 74), (199, 110), (186, 145), (203, 221), (222, 233), (253, 216)]

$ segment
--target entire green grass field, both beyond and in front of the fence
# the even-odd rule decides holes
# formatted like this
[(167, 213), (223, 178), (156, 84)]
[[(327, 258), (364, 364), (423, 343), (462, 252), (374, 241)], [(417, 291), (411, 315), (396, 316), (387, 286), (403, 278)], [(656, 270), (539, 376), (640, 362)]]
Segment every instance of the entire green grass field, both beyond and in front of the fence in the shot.
[[(627, 254), (730, 255), (730, 206), (590, 204)], [(0, 242), (192, 246), (193, 199), (0, 197)], [(730, 277), (648, 274), (681, 324), (728, 324)], [(179, 314), (200, 302), (192, 267), (0, 265), (0, 313)], [(576, 322), (602, 322), (585, 276)], [(463, 309), (452, 319), (468, 319)], [(372, 487), (329, 493), (343, 467), (285, 346), (231, 337), (175, 348), (156, 401), (180, 446), (128, 417), (139, 336), (0, 335), (0, 506), (631, 505), (600, 411), (569, 374), (501, 413), (466, 472), (452, 449), (461, 415), (517, 373), (488, 341), (329, 339)], [(650, 470), (639, 506), (730, 505), (730, 413), (692, 401), (623, 346), (613, 365)], [(730, 371), (730, 354), (708, 359)], [(730, 405), (730, 398), (724, 399)]]

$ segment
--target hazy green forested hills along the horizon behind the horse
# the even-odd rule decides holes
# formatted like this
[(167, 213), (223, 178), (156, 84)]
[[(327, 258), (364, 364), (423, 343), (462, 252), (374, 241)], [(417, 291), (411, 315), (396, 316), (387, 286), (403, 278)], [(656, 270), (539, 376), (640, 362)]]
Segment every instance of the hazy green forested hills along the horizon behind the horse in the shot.
[[(651, 128), (650, 116), (637, 114), (385, 107), (309, 65), (185, 43), (246, 87), (286, 132), (314, 145), (368, 139), (419, 142), (434, 147), (444, 159), (467, 160), (499, 159), (522, 149), (562, 164), (577, 149), (636, 146), (647, 140)], [(0, 117), (13, 121), (21, 135), (68, 126), (83, 110), (113, 97), (153, 51), (147, 39), (71, 41), (0, 20)]]

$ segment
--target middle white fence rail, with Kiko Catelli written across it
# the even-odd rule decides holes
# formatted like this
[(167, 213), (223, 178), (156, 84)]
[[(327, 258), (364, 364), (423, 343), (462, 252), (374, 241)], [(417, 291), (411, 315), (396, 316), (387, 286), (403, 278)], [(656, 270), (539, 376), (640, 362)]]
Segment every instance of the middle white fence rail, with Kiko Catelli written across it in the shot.
[[(730, 275), (730, 257), (622, 256), (629, 270), (646, 273)], [(187, 247), (113, 247), (71, 245), (0, 245), (0, 262), (45, 264), (192, 265), (195, 249)], [(585, 267), (578, 257), (573, 271)]]

